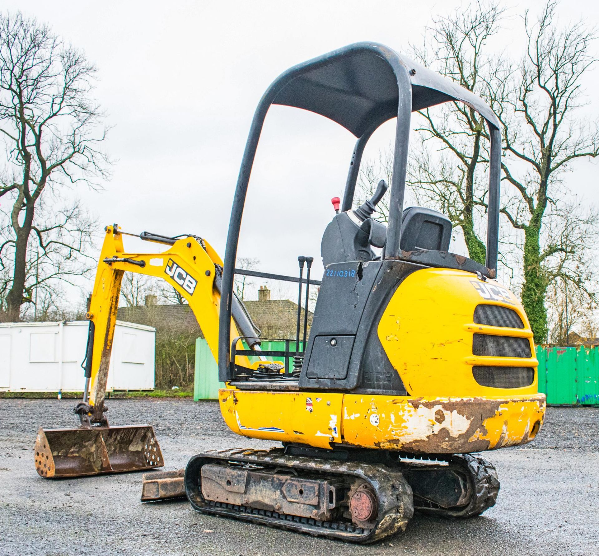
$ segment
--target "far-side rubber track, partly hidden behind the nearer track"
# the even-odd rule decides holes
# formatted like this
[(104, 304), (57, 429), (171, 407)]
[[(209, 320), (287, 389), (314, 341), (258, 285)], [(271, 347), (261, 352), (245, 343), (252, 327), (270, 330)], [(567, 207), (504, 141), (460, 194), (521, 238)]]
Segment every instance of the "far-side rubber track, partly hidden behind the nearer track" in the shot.
[(495, 506), (501, 485), (497, 470), (490, 461), (473, 454), (455, 454), (447, 458), (447, 461), (457, 464), (467, 473), (474, 496), (467, 506), (459, 509), (415, 507), (415, 511), (438, 517), (466, 519), (480, 515)]

